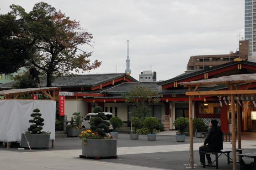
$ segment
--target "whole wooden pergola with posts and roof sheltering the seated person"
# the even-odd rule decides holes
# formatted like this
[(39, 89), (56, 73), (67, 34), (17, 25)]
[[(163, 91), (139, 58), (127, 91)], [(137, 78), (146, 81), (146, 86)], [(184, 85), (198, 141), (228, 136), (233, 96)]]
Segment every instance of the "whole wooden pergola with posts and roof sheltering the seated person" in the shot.
[[(235, 96), (241, 100), (242, 96), (255, 96), (256, 90), (248, 90), (252, 83), (256, 82), (256, 74), (243, 74), (243, 75), (229, 75), (213, 79), (204, 79), (198, 81), (190, 81), (179, 83), (188, 87), (186, 95), (189, 97), (189, 129), (190, 129), (190, 168), (194, 168), (193, 157), (193, 120), (192, 120), (192, 101), (194, 96), (212, 95), (212, 96), (231, 96), (231, 125), (232, 125), (232, 157), (233, 157), (233, 170), (236, 170), (236, 135), (235, 135)], [(248, 83), (245, 90), (240, 90), (241, 83)], [(216, 91), (197, 91), (200, 85), (210, 84), (225, 84), (229, 90), (216, 90)], [(195, 89), (192, 91), (192, 87)], [(241, 126), (240, 126), (240, 104), (236, 102), (237, 107), (237, 135), (238, 135), (238, 149), (241, 149)], [(221, 122), (222, 124), (227, 122)]]

